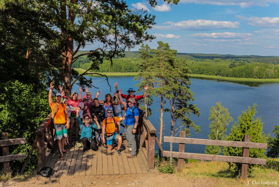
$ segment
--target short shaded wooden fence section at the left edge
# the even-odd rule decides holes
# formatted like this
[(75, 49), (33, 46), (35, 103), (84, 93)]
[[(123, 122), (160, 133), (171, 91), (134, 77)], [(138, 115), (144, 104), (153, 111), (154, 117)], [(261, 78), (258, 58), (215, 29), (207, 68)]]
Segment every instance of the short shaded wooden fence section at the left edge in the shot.
[(3, 162), (5, 175), (11, 172), (10, 161), (26, 158), (25, 153), (9, 155), (9, 146), (18, 145), (18, 144), (25, 144), (25, 138), (8, 139), (8, 133), (2, 133), (2, 140), (0, 140), (0, 147), (2, 147), (3, 156), (0, 156), (0, 162)]

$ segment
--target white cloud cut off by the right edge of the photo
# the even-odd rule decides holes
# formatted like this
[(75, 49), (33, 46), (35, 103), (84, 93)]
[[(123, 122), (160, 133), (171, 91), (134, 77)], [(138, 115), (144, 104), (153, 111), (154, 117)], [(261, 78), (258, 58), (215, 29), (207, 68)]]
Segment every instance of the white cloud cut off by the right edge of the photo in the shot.
[(249, 21), (249, 25), (262, 28), (279, 28), (279, 17), (246, 17), (237, 15), (237, 18)]

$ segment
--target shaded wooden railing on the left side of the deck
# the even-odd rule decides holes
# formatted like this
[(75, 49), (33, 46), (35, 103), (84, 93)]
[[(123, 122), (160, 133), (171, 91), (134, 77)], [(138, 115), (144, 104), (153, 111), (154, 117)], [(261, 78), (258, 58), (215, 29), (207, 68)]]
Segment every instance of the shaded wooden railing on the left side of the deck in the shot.
[(47, 148), (53, 148), (54, 130), (54, 123), (50, 113), (35, 131), (38, 151), (38, 169), (45, 166), (47, 156), (50, 153), (50, 151), (47, 151)]

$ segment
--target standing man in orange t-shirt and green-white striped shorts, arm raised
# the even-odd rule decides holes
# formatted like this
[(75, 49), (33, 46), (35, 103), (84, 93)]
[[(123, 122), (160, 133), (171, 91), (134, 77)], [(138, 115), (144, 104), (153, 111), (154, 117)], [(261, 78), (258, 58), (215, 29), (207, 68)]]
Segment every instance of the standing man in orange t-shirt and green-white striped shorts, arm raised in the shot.
[[(51, 107), (52, 115), (54, 115), (55, 139), (57, 140), (57, 146), (60, 152), (60, 159), (64, 160), (64, 153), (70, 153), (69, 151), (64, 149), (65, 137), (67, 137), (67, 129), (70, 126), (69, 115), (67, 112), (66, 105), (64, 103), (61, 103), (61, 94), (56, 94), (55, 102), (52, 101), (53, 87), (54, 87), (53, 82), (51, 82), (50, 90), (48, 92), (48, 104)], [(57, 105), (56, 114), (55, 114), (55, 105)]]

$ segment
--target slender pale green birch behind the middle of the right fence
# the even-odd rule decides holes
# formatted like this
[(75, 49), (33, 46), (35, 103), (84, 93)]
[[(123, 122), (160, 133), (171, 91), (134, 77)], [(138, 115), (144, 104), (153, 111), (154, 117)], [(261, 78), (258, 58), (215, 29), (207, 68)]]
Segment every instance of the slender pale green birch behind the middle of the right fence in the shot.
[[(210, 134), (208, 138), (210, 140), (225, 140), (227, 126), (229, 122), (233, 121), (233, 118), (230, 116), (228, 112), (228, 108), (222, 107), (221, 102), (216, 102), (214, 107), (211, 107), (209, 110), (209, 118), (210, 120)], [(221, 154), (222, 146), (211, 146), (207, 145), (206, 154)]]

